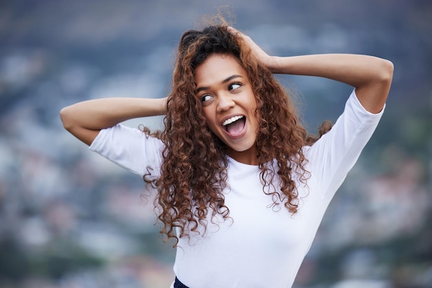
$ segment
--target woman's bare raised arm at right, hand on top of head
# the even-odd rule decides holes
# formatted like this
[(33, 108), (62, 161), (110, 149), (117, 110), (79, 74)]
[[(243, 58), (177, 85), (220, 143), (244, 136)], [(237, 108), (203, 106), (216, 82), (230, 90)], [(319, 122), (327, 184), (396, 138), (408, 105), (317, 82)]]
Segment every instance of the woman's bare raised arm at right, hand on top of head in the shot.
[(369, 112), (378, 113), (384, 107), (393, 78), (391, 61), (357, 54), (269, 56), (250, 37), (240, 35), (273, 73), (320, 76), (340, 81), (355, 87), (360, 103)]

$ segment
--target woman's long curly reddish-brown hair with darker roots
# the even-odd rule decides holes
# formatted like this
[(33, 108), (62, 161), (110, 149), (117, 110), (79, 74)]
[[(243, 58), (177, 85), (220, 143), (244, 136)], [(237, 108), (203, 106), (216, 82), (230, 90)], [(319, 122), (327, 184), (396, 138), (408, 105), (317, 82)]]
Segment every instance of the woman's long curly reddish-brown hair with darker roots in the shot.
[[(155, 202), (163, 224), (161, 233), (168, 239), (176, 238), (177, 242), (190, 232), (202, 232), (200, 228), (206, 228), (209, 215), (211, 219), (216, 214), (229, 217), (222, 193), (227, 186), (226, 145), (210, 131), (202, 104), (195, 96), (195, 69), (208, 56), (217, 53), (235, 56), (253, 86), (259, 123), (256, 145), (260, 177), (263, 192), (272, 197), (274, 206), (283, 203), (289, 212), (297, 212), (298, 194), (293, 175), (306, 181), (309, 175), (304, 168), (307, 159), (302, 147), (320, 137), (306, 134), (288, 93), (253, 56), (242, 37), (228, 30), (228, 25), (222, 23), (201, 31), (184, 32), (161, 134), (164, 143), (161, 176), (153, 181), (159, 192)], [(323, 127), (320, 134), (331, 125)], [(273, 182), (280, 184), (276, 187)], [(176, 227), (179, 228), (177, 236)]]

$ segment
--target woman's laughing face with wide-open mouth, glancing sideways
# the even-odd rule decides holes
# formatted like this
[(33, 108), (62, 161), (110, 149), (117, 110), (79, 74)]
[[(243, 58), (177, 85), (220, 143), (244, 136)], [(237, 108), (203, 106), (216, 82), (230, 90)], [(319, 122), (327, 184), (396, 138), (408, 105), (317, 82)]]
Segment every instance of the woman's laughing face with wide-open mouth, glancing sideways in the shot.
[(213, 54), (195, 69), (195, 81), (208, 126), (228, 155), (257, 165), (257, 103), (246, 71), (234, 56)]

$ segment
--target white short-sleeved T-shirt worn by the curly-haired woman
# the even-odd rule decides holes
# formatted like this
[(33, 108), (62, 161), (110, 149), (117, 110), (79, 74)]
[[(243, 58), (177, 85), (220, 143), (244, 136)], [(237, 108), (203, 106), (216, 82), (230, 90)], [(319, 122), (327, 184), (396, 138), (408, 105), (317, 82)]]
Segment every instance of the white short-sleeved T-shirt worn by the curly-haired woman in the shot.
[[(272, 207), (258, 166), (228, 157), (229, 188), (224, 196), (230, 218), (218, 217), (215, 224), (208, 222), (205, 234), (179, 239), (175, 275), (190, 288), (291, 287), (331, 198), (382, 112), (367, 112), (353, 92), (331, 131), (304, 147), (305, 168), (311, 176), (306, 185), (297, 182), (300, 205), (294, 215), (283, 205)], [(116, 125), (101, 130), (90, 150), (139, 176), (153, 167), (152, 176), (157, 178), (162, 145), (137, 129)]]

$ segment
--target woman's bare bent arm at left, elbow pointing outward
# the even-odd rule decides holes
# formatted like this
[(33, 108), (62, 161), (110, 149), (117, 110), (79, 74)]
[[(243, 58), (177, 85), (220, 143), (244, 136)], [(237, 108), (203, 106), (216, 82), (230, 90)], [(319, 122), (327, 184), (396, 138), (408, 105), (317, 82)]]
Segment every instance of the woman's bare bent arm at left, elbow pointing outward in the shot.
[(60, 111), (63, 126), (90, 145), (101, 129), (146, 116), (165, 114), (166, 99), (106, 98), (79, 102)]

